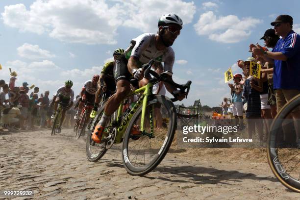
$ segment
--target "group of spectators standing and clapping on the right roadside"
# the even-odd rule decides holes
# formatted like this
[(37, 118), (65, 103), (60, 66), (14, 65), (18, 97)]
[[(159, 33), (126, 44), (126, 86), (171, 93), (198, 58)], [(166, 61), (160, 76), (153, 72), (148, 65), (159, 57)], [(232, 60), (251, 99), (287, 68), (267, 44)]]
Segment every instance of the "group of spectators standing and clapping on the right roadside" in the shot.
[[(269, 132), (270, 122), (282, 107), (293, 97), (300, 94), (300, 35), (293, 31), (293, 18), (289, 15), (279, 15), (271, 23), (274, 28), (265, 31), (261, 40), (264, 47), (258, 43), (250, 44), (251, 53), (245, 61), (237, 64), (242, 74), (233, 75), (234, 83), (228, 84), (231, 93), (231, 105), (225, 98), (221, 106), (223, 114), (228, 106), (236, 119), (236, 124), (243, 125), (245, 111), (248, 126), (248, 137), (257, 129), (261, 143), (266, 141), (263, 128)], [(261, 65), (260, 78), (250, 74), (250, 62)], [(300, 147), (300, 110), (296, 108), (288, 118), (293, 119), (295, 139), (293, 143)], [(296, 120), (298, 119), (298, 121)], [(284, 125), (283, 125), (284, 126)], [(283, 141), (291, 141), (291, 130), (283, 127)]]

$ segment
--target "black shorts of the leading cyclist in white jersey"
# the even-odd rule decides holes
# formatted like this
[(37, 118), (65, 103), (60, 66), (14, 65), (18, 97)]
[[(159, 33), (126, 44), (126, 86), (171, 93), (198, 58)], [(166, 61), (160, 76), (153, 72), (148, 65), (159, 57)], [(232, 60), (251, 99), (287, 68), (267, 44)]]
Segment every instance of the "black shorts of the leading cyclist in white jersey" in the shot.
[(128, 63), (128, 60), (125, 58), (124, 54), (120, 55), (117, 58), (117, 60), (114, 64), (114, 76), (115, 76), (116, 84), (121, 79), (130, 81), (130, 79), (133, 78), (132, 75), (128, 71), (127, 63)]

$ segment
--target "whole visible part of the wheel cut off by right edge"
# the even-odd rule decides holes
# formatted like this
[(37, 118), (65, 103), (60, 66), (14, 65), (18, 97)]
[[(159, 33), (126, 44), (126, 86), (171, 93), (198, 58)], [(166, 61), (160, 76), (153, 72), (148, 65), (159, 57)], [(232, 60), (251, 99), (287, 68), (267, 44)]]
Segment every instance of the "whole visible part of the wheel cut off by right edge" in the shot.
[[(289, 135), (297, 131), (297, 125), (298, 127), (300, 125), (299, 119), (295, 124), (288, 116), (292, 111), (295, 112), (295, 109), (299, 109), (299, 106), (300, 95), (289, 101), (276, 115), (270, 128), (267, 147), (268, 162), (272, 172), (285, 187), (295, 192), (300, 192), (300, 149), (297, 148), (297, 143), (287, 144), (283, 141), (282, 135), (287, 138), (288, 135), (284, 134), (288, 132), (287, 130), (292, 130), (288, 132)], [(295, 131), (293, 128), (289, 129), (288, 125), (292, 127), (296, 125)]]

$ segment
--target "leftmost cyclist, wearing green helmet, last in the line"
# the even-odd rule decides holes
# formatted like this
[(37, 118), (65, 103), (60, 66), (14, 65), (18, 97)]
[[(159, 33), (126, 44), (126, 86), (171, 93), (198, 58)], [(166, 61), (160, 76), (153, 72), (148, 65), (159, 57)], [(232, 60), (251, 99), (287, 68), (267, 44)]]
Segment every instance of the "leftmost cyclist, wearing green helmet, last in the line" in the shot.
[(52, 99), (51, 106), (53, 105), (54, 102), (54, 114), (51, 116), (51, 119), (54, 119), (58, 102), (62, 102), (62, 106), (63, 106), (61, 121), (57, 129), (58, 133), (60, 133), (61, 131), (61, 125), (65, 119), (66, 110), (70, 109), (73, 105), (74, 91), (71, 89), (72, 86), (73, 86), (73, 82), (71, 80), (67, 80), (65, 82), (65, 86), (59, 87)]

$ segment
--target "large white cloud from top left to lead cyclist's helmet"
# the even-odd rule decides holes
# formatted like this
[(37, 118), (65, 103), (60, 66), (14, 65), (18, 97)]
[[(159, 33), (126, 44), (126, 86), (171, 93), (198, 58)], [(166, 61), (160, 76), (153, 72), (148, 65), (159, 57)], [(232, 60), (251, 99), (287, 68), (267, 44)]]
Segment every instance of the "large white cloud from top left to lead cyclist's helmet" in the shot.
[(176, 13), (188, 24), (196, 6), (182, 0), (117, 0), (112, 6), (105, 0), (36, 0), (28, 8), (22, 3), (4, 6), (1, 15), (5, 25), (21, 32), (49, 34), (68, 43), (116, 44), (119, 26), (156, 31), (165, 13)]

